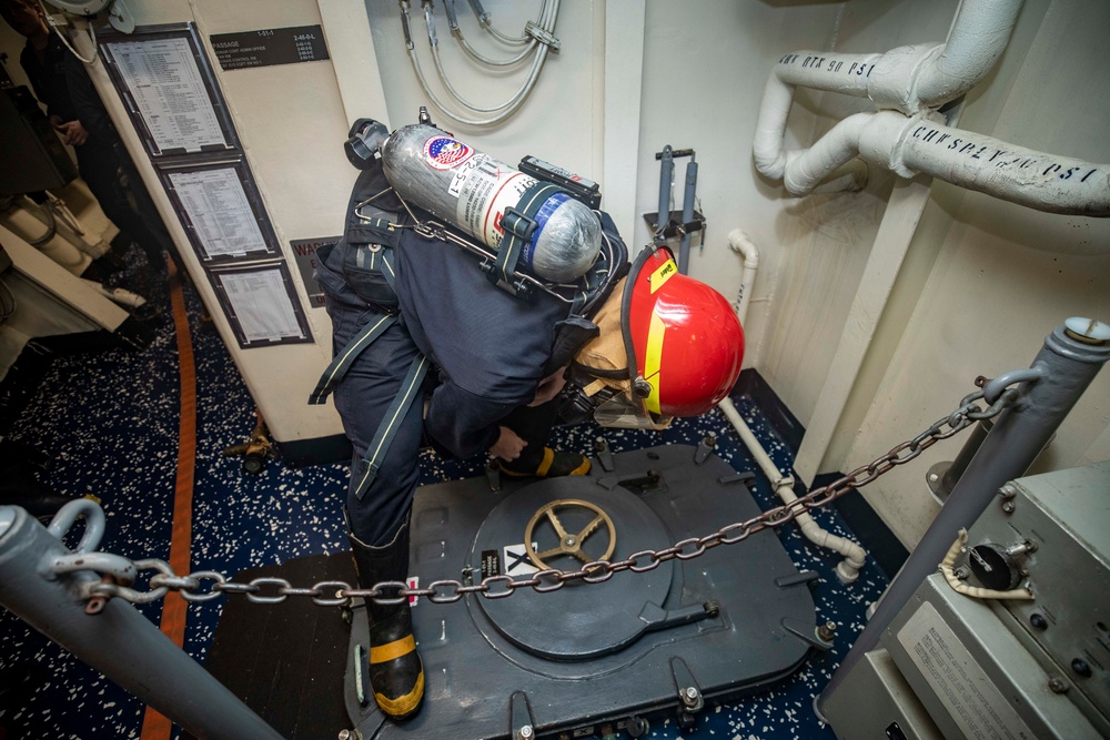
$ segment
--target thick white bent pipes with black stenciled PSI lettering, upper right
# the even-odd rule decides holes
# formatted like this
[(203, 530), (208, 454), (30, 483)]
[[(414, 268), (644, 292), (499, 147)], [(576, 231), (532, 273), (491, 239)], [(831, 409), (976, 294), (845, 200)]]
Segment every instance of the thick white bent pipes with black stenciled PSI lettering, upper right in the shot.
[[(965, 0), (947, 43), (885, 54), (797, 51), (783, 57), (764, 90), (754, 158), (790, 193), (858, 190), (866, 165), (925, 173), (1051, 213), (1110, 215), (1110, 165), (1036, 152), (944, 124), (935, 111), (978, 84), (1006, 49), (1021, 0)], [(786, 120), (798, 85), (869, 98), (880, 110), (837, 123), (808, 150), (786, 151)], [(836, 176), (828, 182), (830, 176)], [(824, 184), (823, 184), (824, 183)]]

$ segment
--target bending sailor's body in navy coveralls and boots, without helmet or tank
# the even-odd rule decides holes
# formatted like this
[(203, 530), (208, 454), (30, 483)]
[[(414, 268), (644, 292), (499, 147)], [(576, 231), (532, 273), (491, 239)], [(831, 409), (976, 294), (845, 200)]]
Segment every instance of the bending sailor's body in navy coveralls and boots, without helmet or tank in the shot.
[[(407, 576), (422, 443), (460, 458), (488, 450), (509, 474), (589, 470), (585, 456), (545, 447), (556, 415), (551, 399), (569, 359), (553, 356), (566, 354), (554, 345), (567, 304), (543, 292), (524, 301), (498, 290), (473, 255), (414, 232), (392, 192), (374, 199), (369, 212), (376, 220), (355, 214), (389, 186), (380, 163), (363, 171), (344, 237), (317, 254), (333, 367), (350, 357), (341, 379), (325, 374), (321, 383), (330, 384), (322, 395), (334, 392), (354, 447), (346, 511), (364, 588)], [(612, 221), (604, 222), (615, 239)], [(392, 423), (387, 433), (383, 419)], [(424, 686), (411, 611), (407, 604), (369, 609), (375, 699), (386, 716), (405, 719), (418, 710)]]

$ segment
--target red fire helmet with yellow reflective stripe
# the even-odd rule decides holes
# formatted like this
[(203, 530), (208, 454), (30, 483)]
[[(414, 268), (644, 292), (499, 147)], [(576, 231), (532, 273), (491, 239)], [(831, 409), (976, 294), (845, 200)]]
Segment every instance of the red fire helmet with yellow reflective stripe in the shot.
[(650, 386), (645, 406), (663, 416), (704, 414), (740, 374), (744, 330), (736, 312), (720, 293), (680, 274), (665, 247), (629, 280), (636, 368)]

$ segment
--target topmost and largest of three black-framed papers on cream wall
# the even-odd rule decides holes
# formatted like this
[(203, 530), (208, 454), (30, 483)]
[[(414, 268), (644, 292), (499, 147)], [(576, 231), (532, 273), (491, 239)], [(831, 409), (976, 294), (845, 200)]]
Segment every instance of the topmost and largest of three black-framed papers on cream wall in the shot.
[(152, 158), (238, 146), (191, 23), (100, 39), (109, 75)]

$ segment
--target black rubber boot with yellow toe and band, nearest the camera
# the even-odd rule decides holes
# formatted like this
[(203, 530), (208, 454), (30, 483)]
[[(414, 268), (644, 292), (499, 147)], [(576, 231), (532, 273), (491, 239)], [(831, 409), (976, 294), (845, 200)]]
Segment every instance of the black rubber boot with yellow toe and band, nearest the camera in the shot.
[[(371, 588), (383, 580), (405, 580), (408, 570), (408, 523), (393, 541), (371, 547), (347, 533), (359, 585)], [(416, 653), (412, 607), (366, 601), (370, 618), (370, 686), (382, 713), (394, 721), (408, 719), (424, 701), (424, 665)]]

